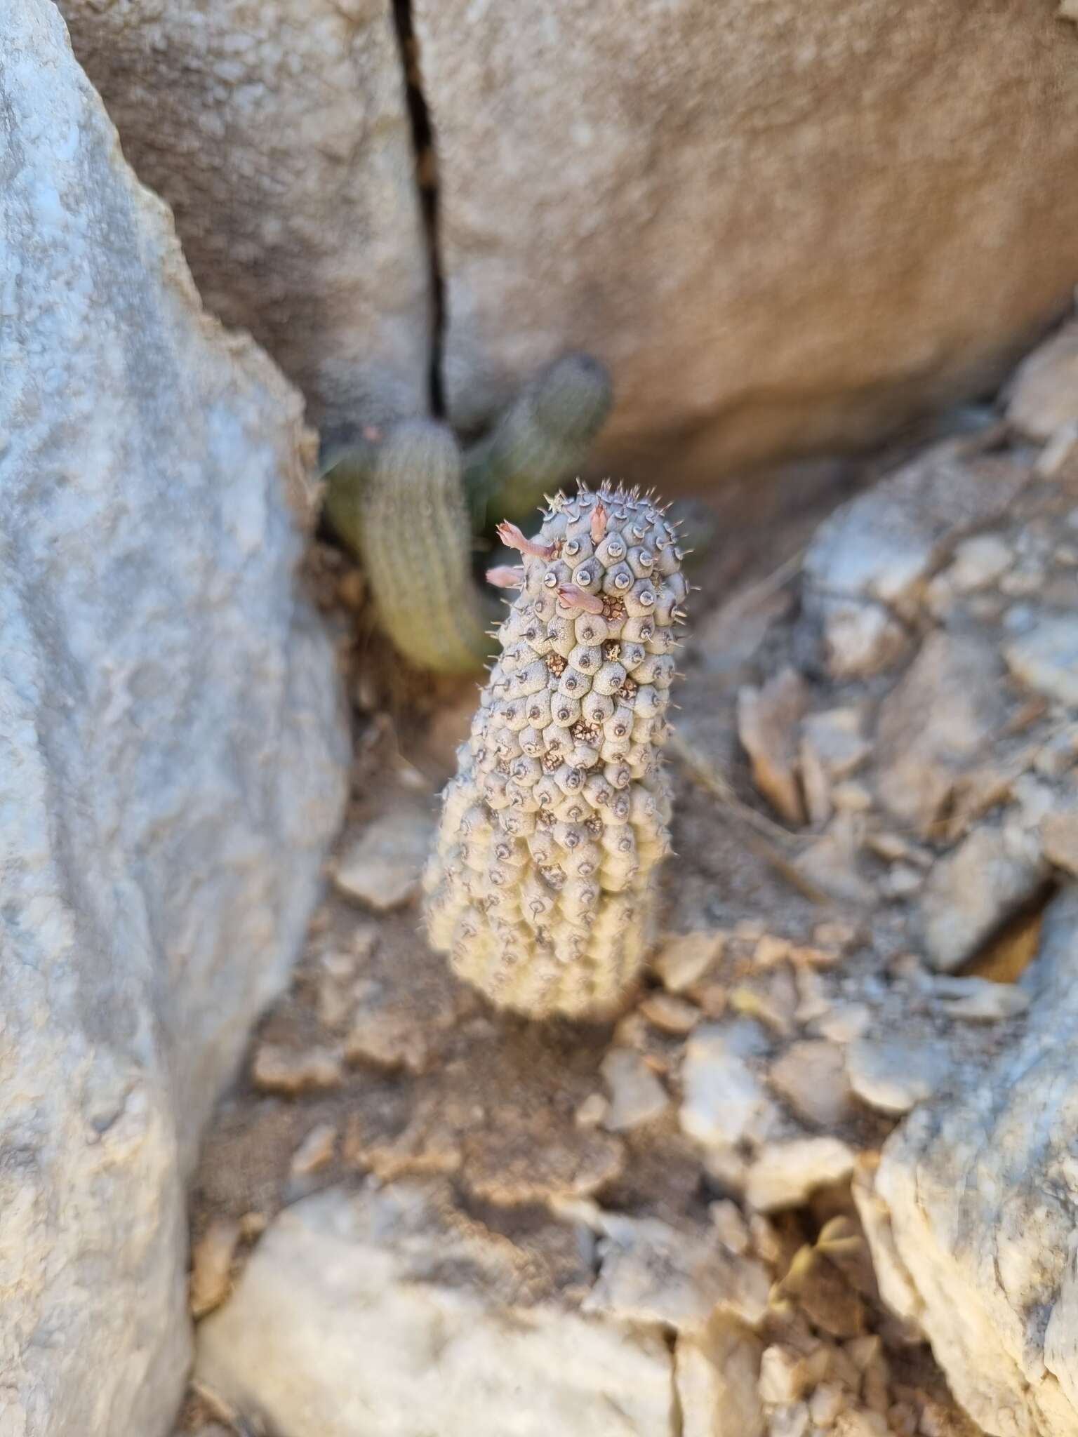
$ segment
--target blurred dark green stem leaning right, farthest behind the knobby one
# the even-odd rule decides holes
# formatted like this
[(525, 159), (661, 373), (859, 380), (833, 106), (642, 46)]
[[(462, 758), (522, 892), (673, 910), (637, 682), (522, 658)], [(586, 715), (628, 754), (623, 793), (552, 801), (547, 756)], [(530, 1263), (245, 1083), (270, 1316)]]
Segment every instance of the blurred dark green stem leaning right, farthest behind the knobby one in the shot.
[(528, 522), (543, 494), (576, 477), (612, 402), (607, 371), (591, 355), (572, 354), (526, 385), (486, 438), (464, 460), (473, 522)]

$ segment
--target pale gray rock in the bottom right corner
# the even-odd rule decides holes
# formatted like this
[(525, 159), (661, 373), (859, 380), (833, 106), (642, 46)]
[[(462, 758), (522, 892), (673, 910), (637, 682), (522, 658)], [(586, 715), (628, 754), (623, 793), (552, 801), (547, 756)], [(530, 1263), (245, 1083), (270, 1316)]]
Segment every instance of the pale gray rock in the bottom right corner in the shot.
[(887, 1142), (860, 1206), (881, 1289), (999, 1437), (1078, 1434), (1078, 892), (1051, 907), (1028, 1027)]

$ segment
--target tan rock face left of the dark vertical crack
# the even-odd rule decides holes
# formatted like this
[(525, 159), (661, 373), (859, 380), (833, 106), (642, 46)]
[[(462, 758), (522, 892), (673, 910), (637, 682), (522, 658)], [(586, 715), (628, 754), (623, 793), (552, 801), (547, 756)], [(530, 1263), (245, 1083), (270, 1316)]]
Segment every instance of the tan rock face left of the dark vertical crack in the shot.
[(318, 424), (427, 404), (428, 270), (392, 7), (60, 0), (208, 309)]

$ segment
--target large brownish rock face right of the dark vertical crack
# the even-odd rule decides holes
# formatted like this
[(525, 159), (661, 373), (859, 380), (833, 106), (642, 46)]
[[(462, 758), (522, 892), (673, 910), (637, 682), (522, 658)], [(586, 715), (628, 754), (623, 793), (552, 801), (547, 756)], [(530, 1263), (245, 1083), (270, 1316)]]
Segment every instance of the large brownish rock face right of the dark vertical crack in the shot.
[(1002, 375), (1078, 279), (1054, 10), (415, 0), (454, 417), (582, 346), (668, 484)]

